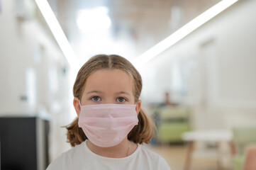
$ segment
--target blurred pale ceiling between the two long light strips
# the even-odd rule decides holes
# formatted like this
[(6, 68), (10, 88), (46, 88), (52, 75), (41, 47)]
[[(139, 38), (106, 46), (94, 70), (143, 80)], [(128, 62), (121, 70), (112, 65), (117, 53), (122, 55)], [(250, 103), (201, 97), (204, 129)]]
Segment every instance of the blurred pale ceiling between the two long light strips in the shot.
[[(80, 60), (99, 53), (117, 53), (131, 60), (220, 0), (48, 1)], [(111, 27), (79, 30), (78, 11), (99, 6), (108, 8)]]

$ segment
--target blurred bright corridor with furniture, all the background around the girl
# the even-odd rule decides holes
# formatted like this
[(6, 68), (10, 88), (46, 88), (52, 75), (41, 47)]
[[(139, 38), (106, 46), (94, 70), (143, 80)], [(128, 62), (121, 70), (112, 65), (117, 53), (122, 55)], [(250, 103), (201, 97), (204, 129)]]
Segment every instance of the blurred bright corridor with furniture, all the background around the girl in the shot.
[(242, 169), (256, 147), (256, 1), (181, 35), (223, 1), (0, 0), (0, 169), (46, 169), (71, 148), (72, 86), (97, 54), (135, 64), (157, 128), (146, 147), (172, 170)]

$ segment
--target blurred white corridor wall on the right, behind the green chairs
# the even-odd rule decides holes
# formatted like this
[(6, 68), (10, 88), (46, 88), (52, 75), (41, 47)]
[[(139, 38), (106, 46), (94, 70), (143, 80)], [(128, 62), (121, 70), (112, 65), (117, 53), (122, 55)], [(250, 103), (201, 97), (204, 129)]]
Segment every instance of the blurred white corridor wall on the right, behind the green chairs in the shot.
[(255, 6), (255, 0), (238, 1), (148, 62), (141, 70), (142, 99), (161, 102), (172, 91), (174, 101), (191, 106), (195, 129), (254, 123)]

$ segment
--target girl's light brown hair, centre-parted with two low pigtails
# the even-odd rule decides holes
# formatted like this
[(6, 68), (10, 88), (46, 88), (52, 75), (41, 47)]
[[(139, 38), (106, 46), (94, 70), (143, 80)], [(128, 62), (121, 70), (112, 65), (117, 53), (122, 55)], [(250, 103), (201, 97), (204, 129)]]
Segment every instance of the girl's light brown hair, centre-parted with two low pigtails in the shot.
[[(91, 57), (77, 74), (77, 79), (73, 86), (74, 97), (79, 98), (81, 101), (87, 78), (100, 69), (121, 69), (128, 73), (133, 79), (135, 102), (138, 101), (142, 90), (142, 79), (140, 74), (135, 67), (133, 67), (133, 64), (118, 55), (96, 55)], [(128, 133), (128, 140), (139, 144), (148, 144), (154, 134), (155, 126), (142, 109), (140, 109), (140, 112), (138, 113), (138, 120), (138, 125), (135, 125), (135, 127)], [(67, 125), (66, 128), (67, 142), (69, 142), (72, 147), (87, 140), (87, 136), (84, 135), (82, 128), (78, 127), (78, 118), (76, 118), (70, 125)]]

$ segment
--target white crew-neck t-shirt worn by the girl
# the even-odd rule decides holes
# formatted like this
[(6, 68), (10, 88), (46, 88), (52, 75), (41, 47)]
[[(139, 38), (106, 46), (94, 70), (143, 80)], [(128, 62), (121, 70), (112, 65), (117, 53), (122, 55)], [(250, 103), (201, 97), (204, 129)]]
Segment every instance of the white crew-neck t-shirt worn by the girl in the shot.
[(138, 145), (133, 154), (123, 158), (101, 157), (87, 147), (86, 142), (69, 149), (57, 157), (46, 170), (83, 169), (147, 169), (170, 170), (167, 162), (159, 154)]

